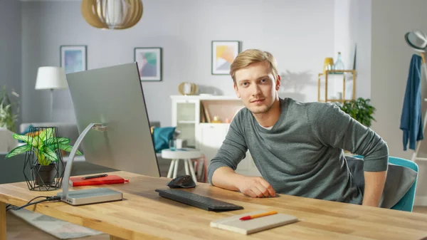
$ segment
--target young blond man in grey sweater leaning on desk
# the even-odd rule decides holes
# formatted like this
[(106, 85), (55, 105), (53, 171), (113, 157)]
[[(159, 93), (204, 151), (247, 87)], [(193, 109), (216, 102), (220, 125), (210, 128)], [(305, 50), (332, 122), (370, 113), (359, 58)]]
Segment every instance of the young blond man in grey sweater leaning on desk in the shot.
[[(231, 65), (243, 108), (209, 166), (209, 182), (250, 197), (276, 192), (379, 207), (389, 150), (384, 140), (332, 103), (278, 96), (275, 58), (250, 49)], [(236, 174), (249, 150), (263, 177)], [(364, 156), (364, 193), (354, 184), (342, 150)]]

